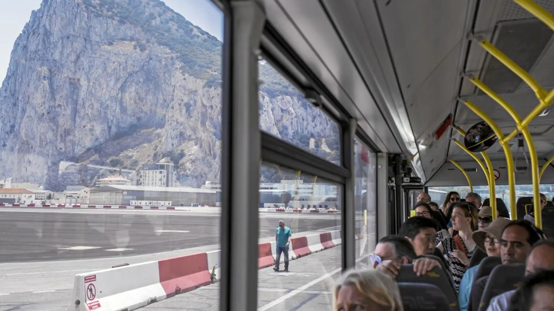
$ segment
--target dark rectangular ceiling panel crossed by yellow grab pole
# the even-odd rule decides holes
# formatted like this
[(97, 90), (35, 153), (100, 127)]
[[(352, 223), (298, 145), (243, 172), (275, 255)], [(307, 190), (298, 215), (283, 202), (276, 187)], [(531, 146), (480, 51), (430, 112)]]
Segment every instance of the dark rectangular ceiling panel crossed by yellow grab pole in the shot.
[[(496, 25), (493, 44), (529, 72), (552, 37), (552, 30), (536, 18), (507, 20)], [(487, 54), (481, 81), (496, 93), (514, 93), (522, 80)], [(484, 94), (478, 91), (479, 95)]]

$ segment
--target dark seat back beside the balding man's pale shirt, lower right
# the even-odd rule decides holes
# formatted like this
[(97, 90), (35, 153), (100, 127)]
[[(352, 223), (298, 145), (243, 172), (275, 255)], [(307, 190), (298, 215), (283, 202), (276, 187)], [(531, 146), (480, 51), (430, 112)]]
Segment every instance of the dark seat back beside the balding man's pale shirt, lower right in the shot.
[(518, 288), (524, 275), (525, 265), (523, 263), (496, 266), (490, 273), (489, 281), (486, 282), (479, 311), (485, 311), (493, 297)]

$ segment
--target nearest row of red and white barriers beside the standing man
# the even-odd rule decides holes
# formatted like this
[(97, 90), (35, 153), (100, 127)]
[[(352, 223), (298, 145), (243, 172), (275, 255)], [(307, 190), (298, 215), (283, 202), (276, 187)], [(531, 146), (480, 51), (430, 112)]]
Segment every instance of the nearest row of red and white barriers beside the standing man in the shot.
[[(340, 231), (293, 238), (289, 260), (341, 244)], [(258, 267), (274, 265), (275, 242), (258, 245)], [(192, 291), (220, 277), (220, 251), (148, 261), (75, 276), (68, 311), (135, 310), (179, 293)], [(284, 256), (281, 256), (281, 262)], [(214, 280), (214, 281), (215, 281)]]

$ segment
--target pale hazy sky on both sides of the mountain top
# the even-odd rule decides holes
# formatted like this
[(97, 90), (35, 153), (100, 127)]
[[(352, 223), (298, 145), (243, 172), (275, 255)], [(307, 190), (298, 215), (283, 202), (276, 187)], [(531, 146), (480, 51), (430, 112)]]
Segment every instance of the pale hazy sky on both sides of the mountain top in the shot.
[[(0, 0), (0, 82), (6, 77), (9, 57), (17, 36), (42, 0)], [(223, 13), (209, 0), (164, 0), (191, 23), (223, 39)], [(2, 83), (0, 83), (1, 85)]]

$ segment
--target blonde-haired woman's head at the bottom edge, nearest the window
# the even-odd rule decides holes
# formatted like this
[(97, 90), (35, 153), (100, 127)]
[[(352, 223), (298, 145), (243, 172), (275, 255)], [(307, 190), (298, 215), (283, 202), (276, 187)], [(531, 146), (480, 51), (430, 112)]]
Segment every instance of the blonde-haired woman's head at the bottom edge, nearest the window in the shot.
[(404, 311), (398, 285), (378, 270), (347, 271), (337, 281), (333, 311)]

